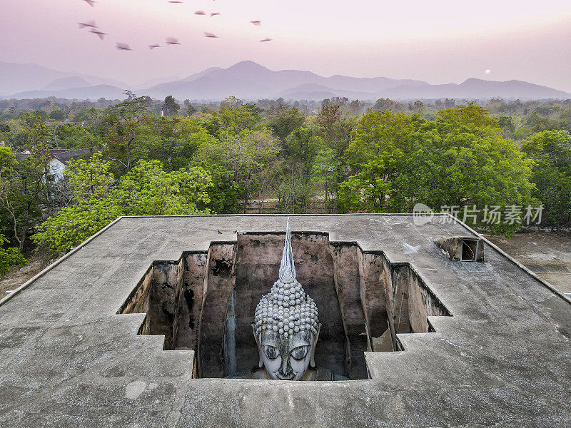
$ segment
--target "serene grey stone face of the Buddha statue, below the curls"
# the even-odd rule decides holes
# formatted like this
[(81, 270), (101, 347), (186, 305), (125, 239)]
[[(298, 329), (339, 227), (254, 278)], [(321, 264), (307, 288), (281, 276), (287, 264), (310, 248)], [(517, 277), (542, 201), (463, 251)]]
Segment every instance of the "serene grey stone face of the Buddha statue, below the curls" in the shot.
[(293, 335), (280, 335), (263, 330), (258, 337), (260, 367), (265, 367), (268, 376), (276, 380), (300, 380), (311, 365), (315, 367), (313, 356), (317, 335), (305, 330)]

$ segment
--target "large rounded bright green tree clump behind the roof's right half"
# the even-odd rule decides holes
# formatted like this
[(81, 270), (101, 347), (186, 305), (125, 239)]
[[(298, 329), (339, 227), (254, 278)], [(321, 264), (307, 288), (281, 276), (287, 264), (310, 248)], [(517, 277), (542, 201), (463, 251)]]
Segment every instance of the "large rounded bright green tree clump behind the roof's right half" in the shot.
[[(410, 212), (415, 203), (435, 210), (525, 205), (533, 187), (531, 162), (501, 131), (473, 105), (440, 111), (436, 121), (365, 114), (345, 154), (351, 175), (340, 185), (341, 205), (375, 212)], [(516, 228), (501, 223), (492, 229)]]

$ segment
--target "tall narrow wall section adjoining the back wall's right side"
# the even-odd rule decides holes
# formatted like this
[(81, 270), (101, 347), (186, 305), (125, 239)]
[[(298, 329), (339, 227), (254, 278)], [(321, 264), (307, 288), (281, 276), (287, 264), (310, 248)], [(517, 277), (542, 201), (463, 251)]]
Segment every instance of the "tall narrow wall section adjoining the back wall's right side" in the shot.
[(360, 249), (352, 243), (332, 243), (330, 250), (345, 329), (347, 374), (350, 379), (366, 379), (364, 352), (370, 347), (370, 341), (360, 295)]

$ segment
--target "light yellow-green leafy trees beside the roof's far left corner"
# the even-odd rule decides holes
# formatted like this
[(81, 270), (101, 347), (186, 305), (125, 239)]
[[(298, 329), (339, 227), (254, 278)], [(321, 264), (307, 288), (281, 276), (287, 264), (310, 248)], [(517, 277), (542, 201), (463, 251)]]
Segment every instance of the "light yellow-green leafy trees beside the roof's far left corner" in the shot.
[(166, 173), (158, 161), (138, 161), (113, 183), (101, 156), (77, 161), (66, 173), (74, 204), (41, 223), (33, 240), (54, 253), (69, 251), (121, 215), (209, 213), (210, 175), (202, 168)]

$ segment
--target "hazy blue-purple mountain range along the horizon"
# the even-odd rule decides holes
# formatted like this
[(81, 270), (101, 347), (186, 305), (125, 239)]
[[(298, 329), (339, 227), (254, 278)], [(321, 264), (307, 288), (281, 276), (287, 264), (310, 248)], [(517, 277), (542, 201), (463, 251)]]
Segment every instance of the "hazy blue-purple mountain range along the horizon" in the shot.
[(1, 98), (98, 98), (122, 99), (126, 89), (137, 95), (180, 100), (221, 100), (236, 96), (245, 100), (278, 98), (315, 100), (335, 96), (359, 100), (435, 98), (568, 99), (570, 93), (524, 81), (486, 81), (468, 78), (463, 83), (431, 85), (425, 81), (386, 77), (323, 77), (310, 71), (273, 71), (253, 61), (228, 68), (212, 67), (186, 78), (156, 78), (138, 86), (81, 73), (54, 71), (35, 64), (0, 62)]

